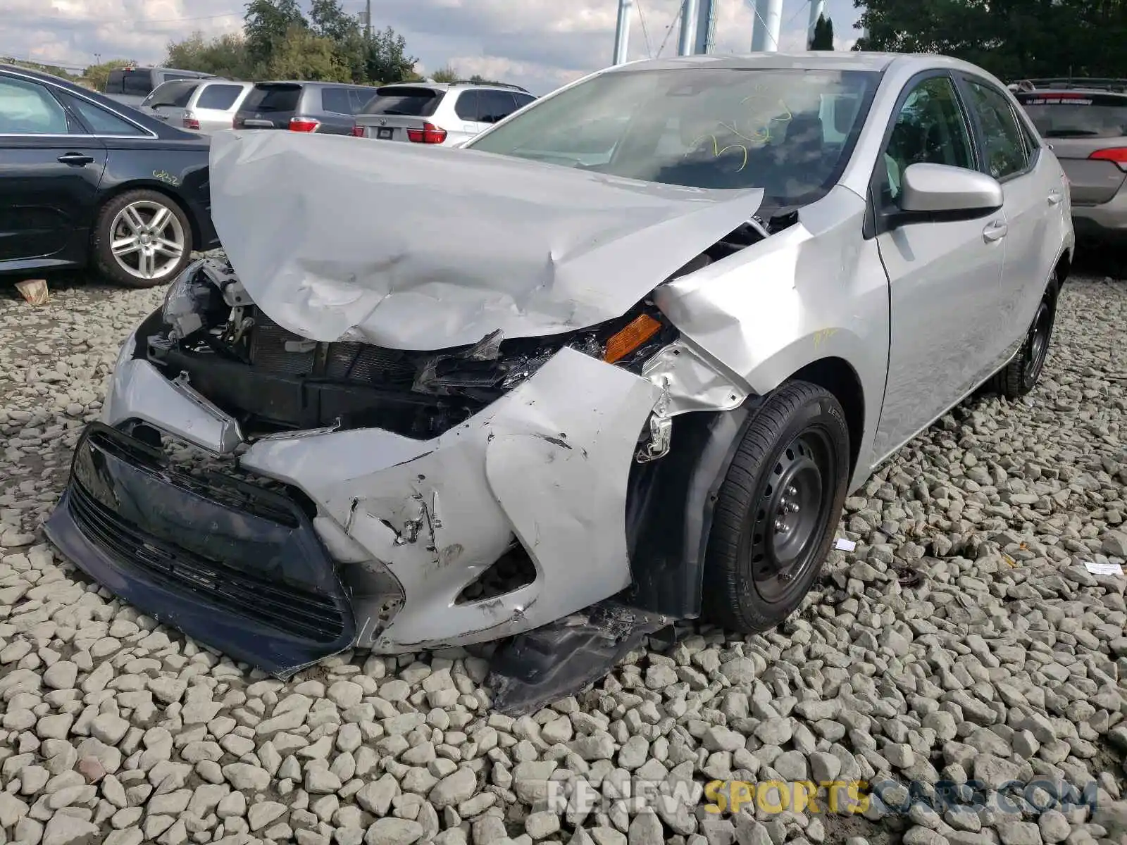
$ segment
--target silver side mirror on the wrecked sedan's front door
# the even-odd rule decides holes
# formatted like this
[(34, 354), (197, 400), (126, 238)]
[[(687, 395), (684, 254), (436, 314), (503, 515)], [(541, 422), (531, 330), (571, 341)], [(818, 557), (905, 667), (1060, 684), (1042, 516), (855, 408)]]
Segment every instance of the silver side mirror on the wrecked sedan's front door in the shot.
[(909, 164), (902, 177), (898, 224), (976, 220), (1002, 207), (997, 179), (948, 164)]

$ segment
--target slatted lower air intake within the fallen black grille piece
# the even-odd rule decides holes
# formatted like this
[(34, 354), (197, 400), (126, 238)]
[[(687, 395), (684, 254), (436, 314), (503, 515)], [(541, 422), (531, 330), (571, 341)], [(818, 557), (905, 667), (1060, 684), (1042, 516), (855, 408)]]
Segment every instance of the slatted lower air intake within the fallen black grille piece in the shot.
[(192, 590), (212, 604), (305, 639), (331, 642), (344, 633), (344, 620), (331, 599), (156, 541), (104, 507), (81, 484), (71, 490), (71, 513), (82, 533), (163, 586)]

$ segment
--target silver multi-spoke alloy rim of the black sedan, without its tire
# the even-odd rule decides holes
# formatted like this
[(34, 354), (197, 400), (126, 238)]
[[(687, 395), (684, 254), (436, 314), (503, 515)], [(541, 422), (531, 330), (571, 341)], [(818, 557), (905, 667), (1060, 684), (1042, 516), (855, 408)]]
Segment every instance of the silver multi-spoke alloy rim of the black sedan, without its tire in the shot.
[(161, 203), (139, 199), (114, 216), (109, 226), (110, 252), (131, 276), (147, 281), (169, 275), (184, 257), (184, 225)]

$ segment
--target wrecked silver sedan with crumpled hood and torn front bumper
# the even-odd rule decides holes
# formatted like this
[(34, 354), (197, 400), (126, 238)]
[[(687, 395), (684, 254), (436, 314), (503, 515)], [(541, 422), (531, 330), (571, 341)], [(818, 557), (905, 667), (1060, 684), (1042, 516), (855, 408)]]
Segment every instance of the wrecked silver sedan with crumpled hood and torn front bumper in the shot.
[(1037, 383), (1068, 184), (938, 56), (594, 73), (462, 149), (213, 136), (222, 256), (125, 341), (52, 540), (287, 677), (500, 641), (507, 712), (678, 620), (764, 631), (845, 496)]

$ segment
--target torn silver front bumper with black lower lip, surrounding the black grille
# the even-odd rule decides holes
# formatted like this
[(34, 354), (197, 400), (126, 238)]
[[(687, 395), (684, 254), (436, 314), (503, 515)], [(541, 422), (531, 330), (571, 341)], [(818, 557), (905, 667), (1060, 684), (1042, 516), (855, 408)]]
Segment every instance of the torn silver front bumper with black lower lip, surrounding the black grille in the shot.
[[(105, 424), (143, 420), (213, 453), (246, 445), (234, 420), (187, 385), (169, 382), (133, 348), (123, 347)], [(345, 615), (348, 624), (355, 620), (353, 642), (390, 653), (464, 646), (539, 628), (630, 584), (629, 473), (639, 434), (662, 395), (649, 377), (565, 348), (526, 382), (434, 439), (378, 428), (301, 432), (256, 441), (240, 462), (309, 498), (316, 515), (304, 515), (303, 525), (328, 550), (316, 564), (323, 595), (350, 603)], [(85, 444), (99, 443), (99, 436)], [(77, 465), (85, 460), (80, 451)], [(72, 488), (80, 478), (76, 471)], [(151, 478), (147, 483), (159, 486)], [(282, 660), (267, 656), (267, 665), (247, 650), (243, 638), (254, 630), (247, 619), (224, 620), (222, 630), (204, 628), (203, 620), (220, 612), (181, 610), (189, 604), (188, 586), (157, 593), (134, 582), (141, 578), (135, 564), (112, 566), (122, 554), (109, 554), (76, 521), (72, 493), (51, 532), (83, 569), (147, 612), (188, 633), (202, 631), (204, 642), (278, 674)], [(190, 534), (206, 524), (186, 519), (179, 530)], [(500, 596), (461, 598), (515, 544), (527, 553), (534, 580)], [(390, 621), (388, 575), (398, 594)], [(339, 641), (326, 641), (321, 656), (330, 644)], [(285, 666), (307, 655), (287, 655)]]

